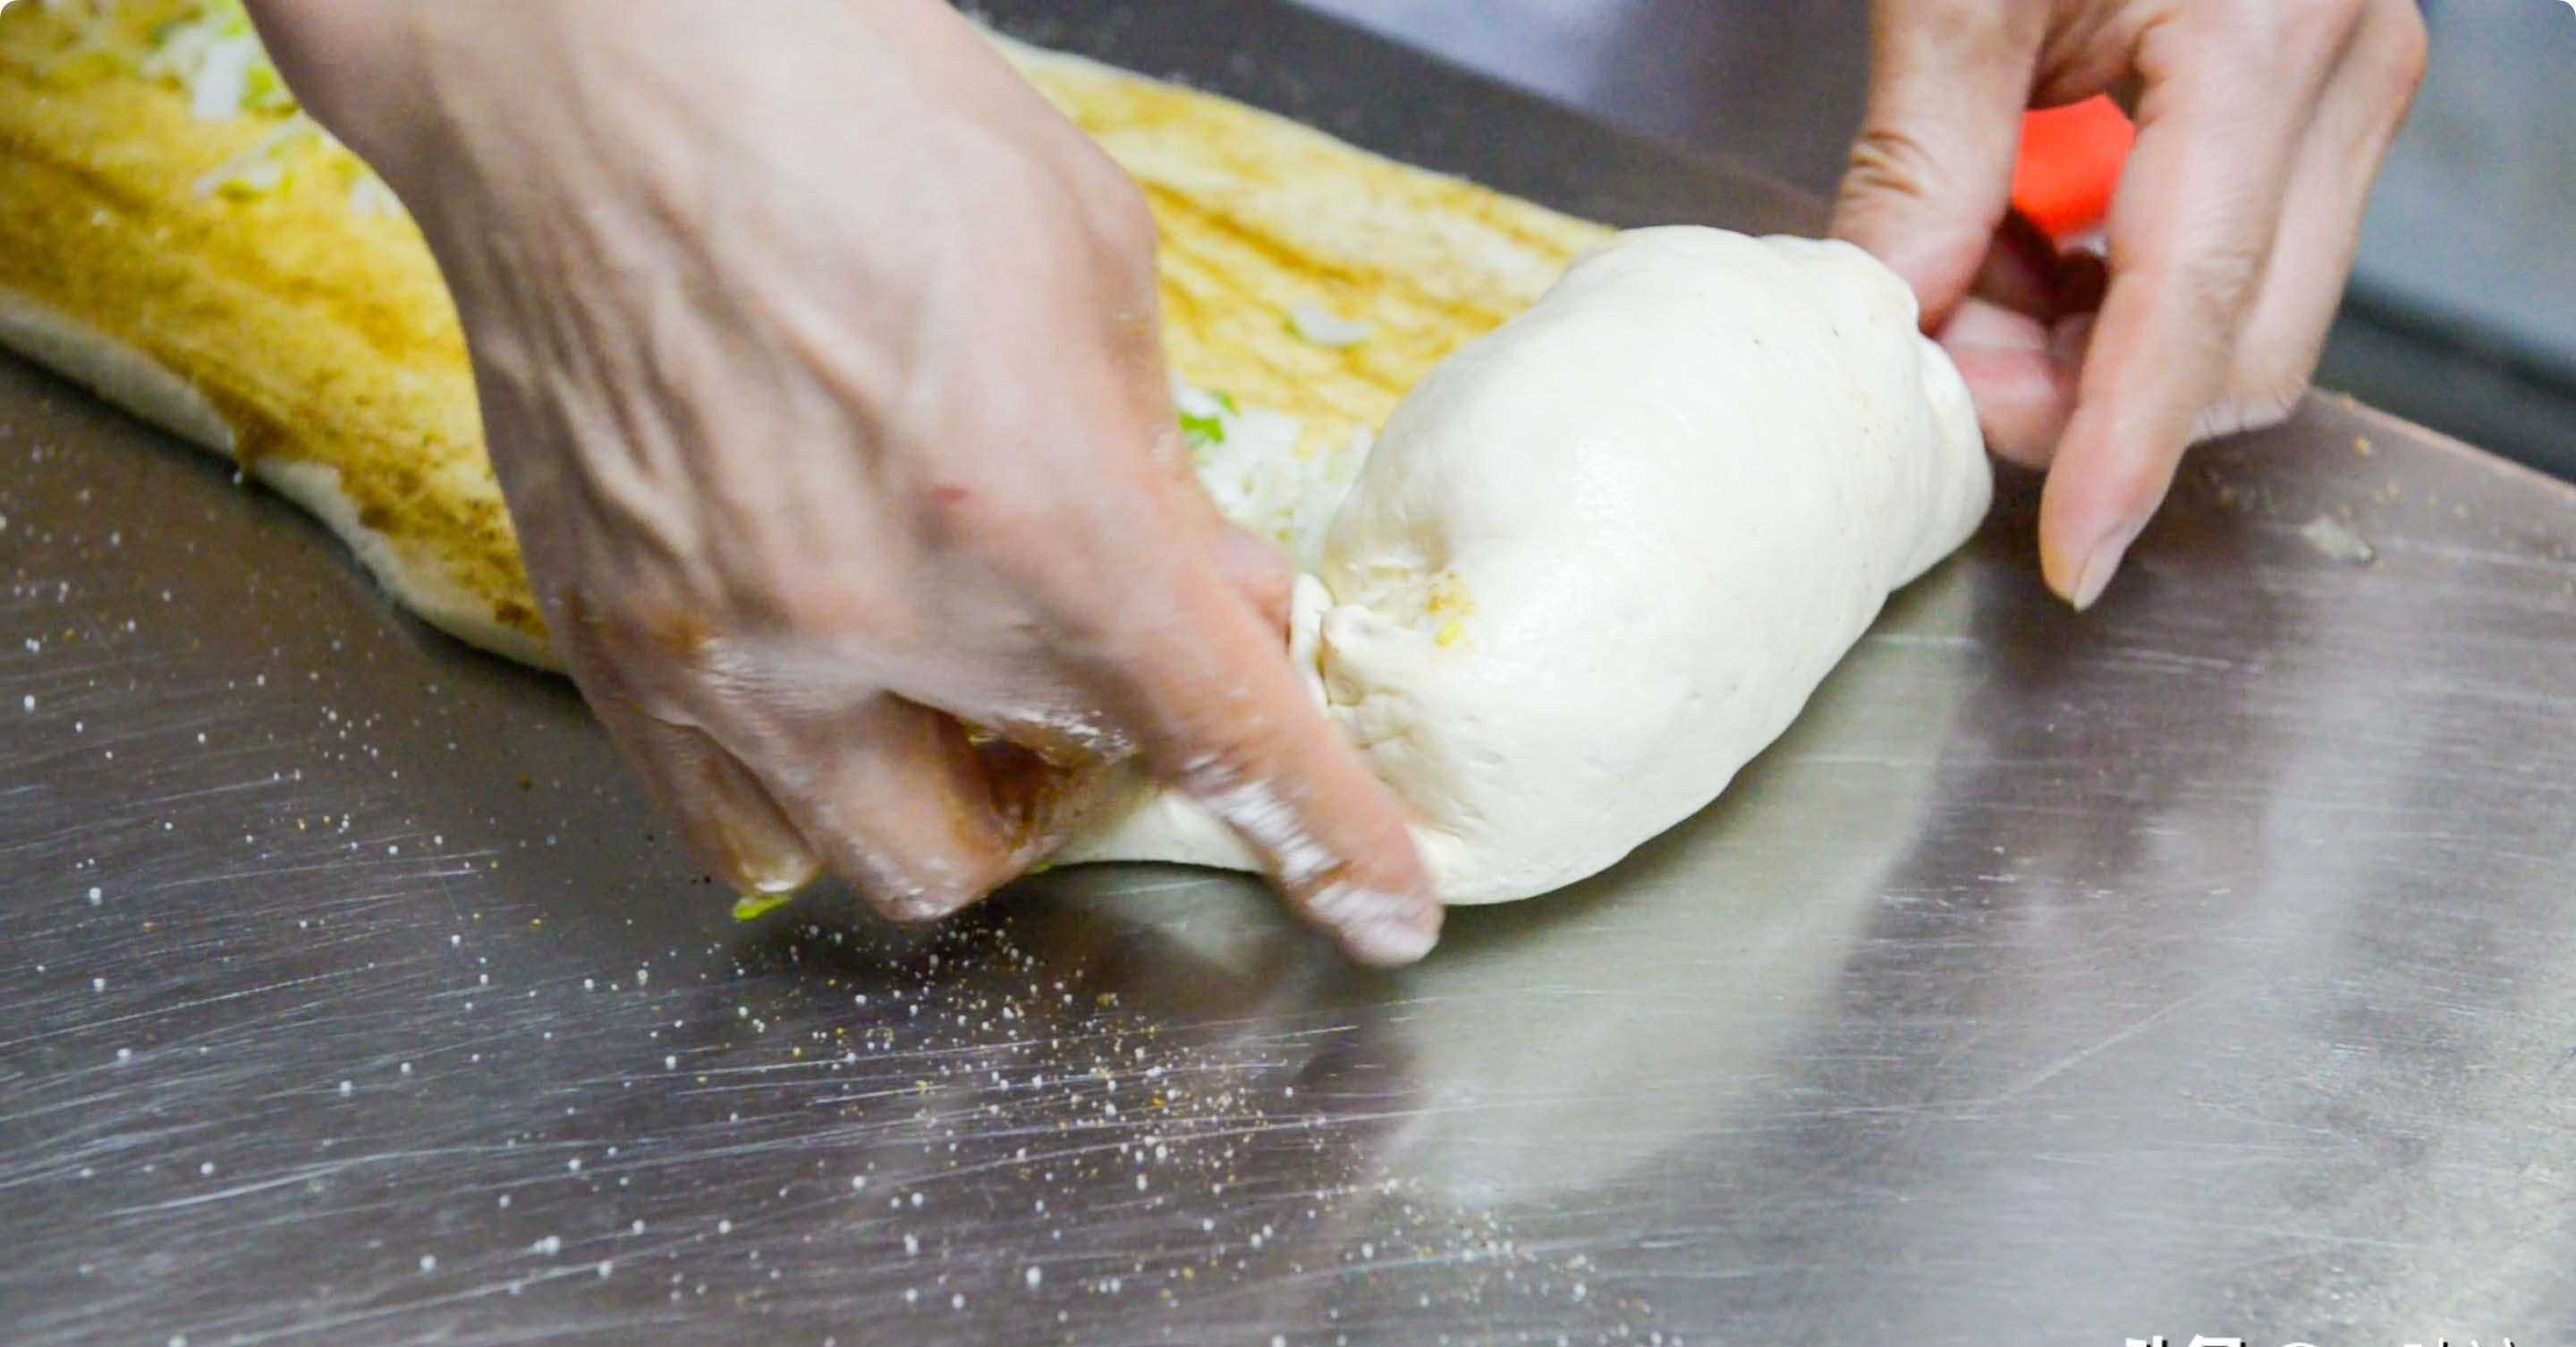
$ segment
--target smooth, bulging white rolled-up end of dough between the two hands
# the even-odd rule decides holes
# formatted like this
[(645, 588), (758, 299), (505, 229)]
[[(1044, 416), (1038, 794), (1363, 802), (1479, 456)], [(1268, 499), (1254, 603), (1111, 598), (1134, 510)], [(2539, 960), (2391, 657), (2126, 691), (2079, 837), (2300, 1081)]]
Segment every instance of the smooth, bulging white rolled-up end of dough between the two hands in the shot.
[[(1396, 407), (1291, 659), (1417, 811), (1440, 899), (1528, 899), (1713, 801), (1989, 497), (1878, 260), (1641, 229)], [(1255, 868), (1170, 793), (1061, 860)]]

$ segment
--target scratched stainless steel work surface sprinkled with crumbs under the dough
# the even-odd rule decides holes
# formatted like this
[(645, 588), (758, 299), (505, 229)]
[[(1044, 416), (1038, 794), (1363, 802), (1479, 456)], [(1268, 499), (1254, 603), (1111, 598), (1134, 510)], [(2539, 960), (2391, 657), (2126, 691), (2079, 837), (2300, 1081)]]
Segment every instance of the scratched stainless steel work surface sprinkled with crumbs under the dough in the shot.
[[(1211, 82), (1370, 144), (1790, 211), (1260, 36)], [(0, 361), (0, 1342), (2576, 1337), (2576, 492), (2318, 404), (2089, 618), (2030, 510), (1363, 974), (1162, 868), (737, 925), (569, 688)]]

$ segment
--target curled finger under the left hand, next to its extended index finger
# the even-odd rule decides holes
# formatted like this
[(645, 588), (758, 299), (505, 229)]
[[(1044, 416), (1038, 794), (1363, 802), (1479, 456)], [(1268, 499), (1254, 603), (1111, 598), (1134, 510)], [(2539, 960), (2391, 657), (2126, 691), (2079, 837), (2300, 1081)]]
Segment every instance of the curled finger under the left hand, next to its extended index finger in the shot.
[(829, 713), (726, 708), (721, 742), (752, 765), (796, 832), (878, 914), (930, 922), (1036, 860), (1041, 783), (997, 770), (966, 726), (891, 693)]

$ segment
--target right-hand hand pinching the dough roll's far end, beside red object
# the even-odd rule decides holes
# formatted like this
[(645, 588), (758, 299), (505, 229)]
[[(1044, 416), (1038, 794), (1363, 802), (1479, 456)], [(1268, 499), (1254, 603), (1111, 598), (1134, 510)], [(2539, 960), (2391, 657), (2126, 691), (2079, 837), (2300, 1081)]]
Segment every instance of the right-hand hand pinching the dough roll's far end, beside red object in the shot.
[[(1834, 234), (1911, 286), (2089, 608), (2187, 443), (2290, 415), (2424, 75), (2414, 0), (1875, 0)], [(2007, 216), (2020, 118), (2136, 93), (2107, 276)]]

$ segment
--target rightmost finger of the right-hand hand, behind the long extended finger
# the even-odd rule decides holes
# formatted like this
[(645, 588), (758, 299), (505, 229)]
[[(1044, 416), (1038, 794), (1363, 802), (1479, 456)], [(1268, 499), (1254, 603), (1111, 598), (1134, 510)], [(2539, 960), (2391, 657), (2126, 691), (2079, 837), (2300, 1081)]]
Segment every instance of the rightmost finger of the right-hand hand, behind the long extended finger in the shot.
[(2298, 404), (2352, 276), (2370, 185), (2421, 77), (2424, 15), (2414, 0), (2372, 3), (2290, 170), (2272, 265), (2202, 433), (2269, 425)]

